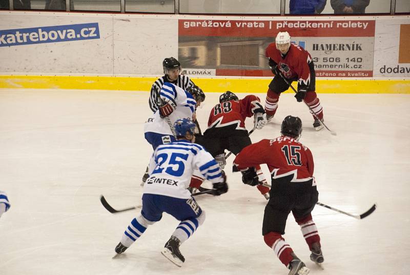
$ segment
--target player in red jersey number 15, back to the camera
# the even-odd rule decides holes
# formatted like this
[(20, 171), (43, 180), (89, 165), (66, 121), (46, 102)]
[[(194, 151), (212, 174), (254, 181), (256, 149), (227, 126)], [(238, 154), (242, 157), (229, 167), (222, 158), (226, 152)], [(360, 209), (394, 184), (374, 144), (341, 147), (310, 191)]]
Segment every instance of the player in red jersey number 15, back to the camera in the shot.
[(291, 270), (290, 275), (309, 273), (282, 237), (291, 211), (311, 250), (311, 260), (317, 264), (323, 262), (320, 237), (311, 214), (318, 201), (313, 156), (309, 148), (298, 141), (301, 132), (299, 117), (288, 115), (282, 122), (282, 136), (249, 145), (234, 160), (234, 169), (242, 172), (245, 184), (256, 182), (253, 167), (265, 163), (271, 171), (271, 198), (265, 207), (262, 234), (265, 243)]

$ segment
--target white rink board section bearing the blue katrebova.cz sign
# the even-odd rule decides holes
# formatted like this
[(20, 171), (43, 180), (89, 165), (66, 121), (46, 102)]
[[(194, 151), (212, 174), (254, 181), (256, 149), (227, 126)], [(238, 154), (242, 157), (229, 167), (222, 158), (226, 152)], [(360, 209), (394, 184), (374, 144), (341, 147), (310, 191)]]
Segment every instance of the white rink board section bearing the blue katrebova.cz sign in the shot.
[(0, 72), (112, 74), (112, 16), (3, 12)]

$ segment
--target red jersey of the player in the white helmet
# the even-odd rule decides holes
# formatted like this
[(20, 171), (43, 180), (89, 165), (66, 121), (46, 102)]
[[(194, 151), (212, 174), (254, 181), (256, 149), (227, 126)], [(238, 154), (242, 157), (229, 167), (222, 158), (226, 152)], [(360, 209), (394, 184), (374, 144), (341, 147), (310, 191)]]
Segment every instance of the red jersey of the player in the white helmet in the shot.
[(288, 53), (283, 57), (278, 49), (276, 43), (269, 44), (266, 48), (266, 57), (271, 58), (278, 69), (286, 78), (298, 77), (298, 83), (303, 87), (308, 87), (311, 82), (311, 70), (309, 63), (312, 62), (310, 53), (303, 48), (292, 44)]

